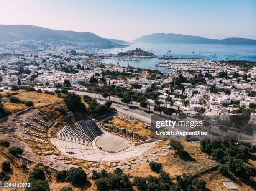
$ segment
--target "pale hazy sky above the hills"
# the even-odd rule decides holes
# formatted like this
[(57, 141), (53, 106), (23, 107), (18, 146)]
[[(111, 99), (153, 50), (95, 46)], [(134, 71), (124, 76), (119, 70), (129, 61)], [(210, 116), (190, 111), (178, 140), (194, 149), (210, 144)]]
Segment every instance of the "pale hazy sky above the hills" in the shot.
[(121, 40), (160, 32), (256, 39), (256, 0), (0, 0), (0, 24)]

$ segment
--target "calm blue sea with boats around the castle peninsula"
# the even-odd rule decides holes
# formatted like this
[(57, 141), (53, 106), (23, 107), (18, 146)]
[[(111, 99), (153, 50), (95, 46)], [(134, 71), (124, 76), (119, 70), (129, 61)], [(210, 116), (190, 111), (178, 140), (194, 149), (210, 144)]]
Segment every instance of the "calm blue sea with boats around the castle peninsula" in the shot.
[[(210, 60), (247, 60), (256, 61), (256, 45), (222, 45), (222, 44), (172, 44), (172, 43), (141, 43), (131, 42), (125, 48), (94, 49), (92, 53), (113, 53), (125, 52), (135, 48), (154, 53), (156, 56), (176, 56), (208, 58)], [(194, 52), (194, 53), (193, 53)], [(186, 59), (182, 59), (186, 60)], [(161, 59), (145, 58), (142, 60), (122, 60), (117, 61), (113, 58), (103, 59), (104, 63), (118, 64), (120, 66), (133, 66), (140, 68), (150, 68), (165, 70), (163, 67), (156, 67)], [(181, 61), (176, 59), (174, 61)]]

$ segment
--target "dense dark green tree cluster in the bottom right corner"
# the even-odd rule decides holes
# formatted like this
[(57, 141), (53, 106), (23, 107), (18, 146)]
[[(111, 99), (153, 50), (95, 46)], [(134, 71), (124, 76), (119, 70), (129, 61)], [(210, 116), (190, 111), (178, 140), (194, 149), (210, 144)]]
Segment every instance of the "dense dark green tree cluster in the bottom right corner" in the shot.
[(251, 142), (238, 141), (235, 138), (205, 139), (200, 142), (200, 148), (222, 164), (219, 170), (223, 174), (229, 171), (247, 179), (256, 175), (256, 168), (248, 163), (251, 155), (256, 152), (256, 146)]

